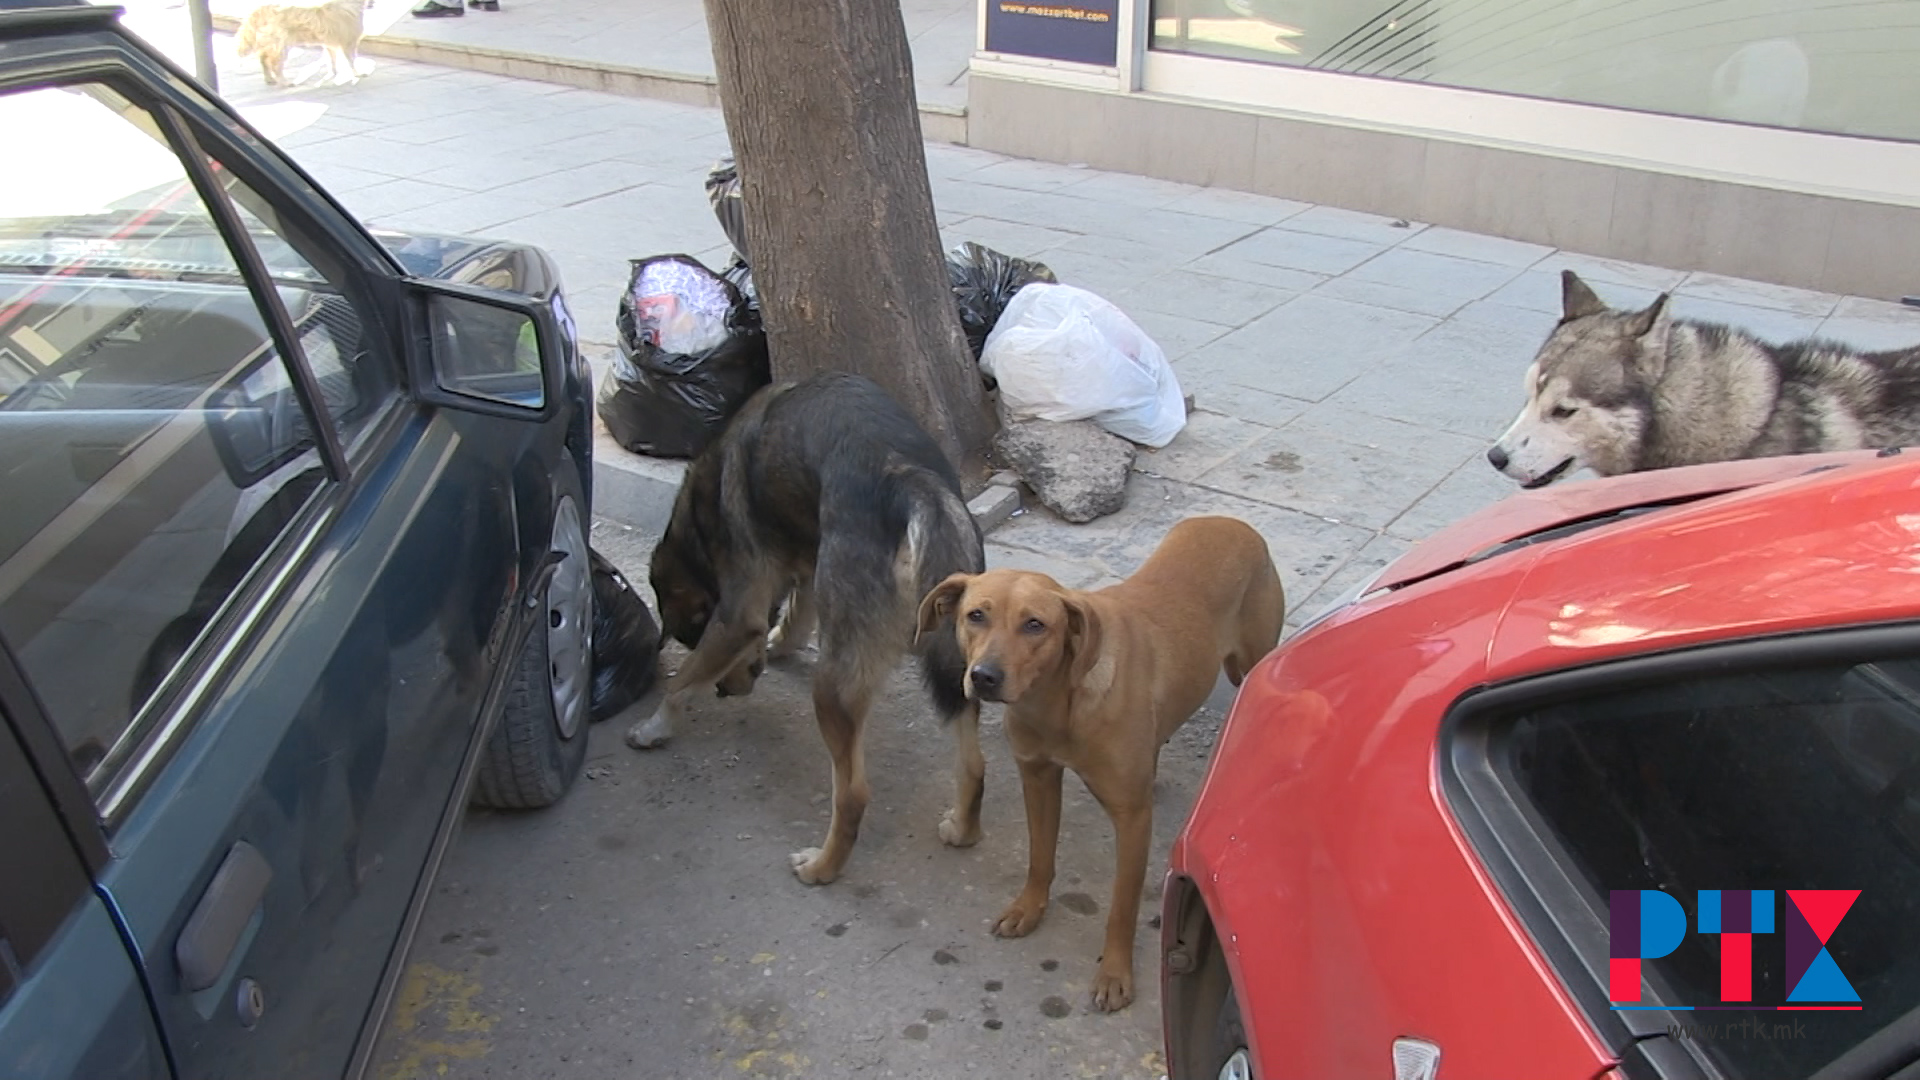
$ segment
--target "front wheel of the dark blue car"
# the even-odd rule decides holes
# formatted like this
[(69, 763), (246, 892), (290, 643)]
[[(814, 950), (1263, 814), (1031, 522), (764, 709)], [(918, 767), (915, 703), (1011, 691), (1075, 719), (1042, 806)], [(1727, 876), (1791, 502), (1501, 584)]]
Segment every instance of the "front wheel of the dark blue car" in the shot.
[(472, 801), (534, 809), (559, 801), (588, 757), (593, 686), (593, 575), (580, 500), (561, 494), (553, 515), (559, 563), (540, 596), (540, 621), (526, 634), (499, 724), (488, 736)]

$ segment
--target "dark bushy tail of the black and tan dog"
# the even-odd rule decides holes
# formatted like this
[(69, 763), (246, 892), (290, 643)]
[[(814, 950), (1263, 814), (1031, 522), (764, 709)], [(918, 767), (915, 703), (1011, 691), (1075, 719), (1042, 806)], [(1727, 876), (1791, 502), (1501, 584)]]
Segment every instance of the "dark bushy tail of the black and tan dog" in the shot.
[[(897, 473), (897, 482), (891, 486), (889, 502), (904, 521), (900, 584), (912, 592), (914, 607), (948, 575), (977, 575), (987, 569), (979, 525), (945, 477), (906, 471)], [(950, 628), (920, 636), (920, 675), (941, 721), (950, 721), (966, 707), (966, 653), (960, 651), (960, 640)]]

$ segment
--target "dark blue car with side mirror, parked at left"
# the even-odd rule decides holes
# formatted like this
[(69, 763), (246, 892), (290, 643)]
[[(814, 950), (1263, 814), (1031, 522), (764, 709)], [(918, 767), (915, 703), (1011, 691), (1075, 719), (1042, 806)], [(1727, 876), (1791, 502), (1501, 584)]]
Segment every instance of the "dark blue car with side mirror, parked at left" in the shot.
[(468, 799), (586, 755), (559, 277), (111, 8), (0, 0), (0, 1078), (357, 1074)]

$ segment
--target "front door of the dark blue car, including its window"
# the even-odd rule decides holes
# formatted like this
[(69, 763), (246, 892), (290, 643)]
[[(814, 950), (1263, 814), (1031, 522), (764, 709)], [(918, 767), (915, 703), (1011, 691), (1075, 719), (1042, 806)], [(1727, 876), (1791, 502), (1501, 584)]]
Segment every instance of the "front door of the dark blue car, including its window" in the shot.
[(0, 129), (61, 146), (0, 206), (33, 221), (0, 261), (33, 267), (0, 269), (0, 642), (179, 1072), (338, 1076), (463, 803), (540, 429), (413, 404), (390, 263), (125, 63), (0, 88)]

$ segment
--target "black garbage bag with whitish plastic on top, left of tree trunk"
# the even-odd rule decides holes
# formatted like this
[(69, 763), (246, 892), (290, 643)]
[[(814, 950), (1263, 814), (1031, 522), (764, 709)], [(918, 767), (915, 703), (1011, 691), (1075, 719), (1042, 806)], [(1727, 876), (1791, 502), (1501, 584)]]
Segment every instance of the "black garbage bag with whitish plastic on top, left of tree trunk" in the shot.
[(616, 331), (597, 409), (636, 454), (693, 457), (772, 382), (760, 309), (695, 258), (634, 259)]

